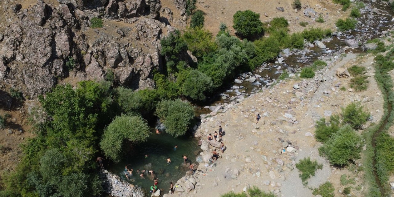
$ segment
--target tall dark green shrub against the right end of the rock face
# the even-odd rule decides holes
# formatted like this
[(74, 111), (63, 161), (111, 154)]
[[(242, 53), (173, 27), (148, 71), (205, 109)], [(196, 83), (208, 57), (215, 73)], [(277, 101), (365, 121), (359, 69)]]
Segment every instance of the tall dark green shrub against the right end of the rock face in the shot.
[(167, 72), (175, 73), (178, 71), (177, 65), (181, 61), (182, 54), (188, 50), (186, 41), (181, 36), (179, 30), (169, 33), (160, 40), (162, 46), (161, 54), (165, 56)]

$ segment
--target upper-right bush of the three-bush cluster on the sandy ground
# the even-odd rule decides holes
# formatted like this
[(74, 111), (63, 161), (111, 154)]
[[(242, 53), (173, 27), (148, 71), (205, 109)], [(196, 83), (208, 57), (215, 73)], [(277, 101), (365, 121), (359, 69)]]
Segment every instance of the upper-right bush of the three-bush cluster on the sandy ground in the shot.
[(364, 106), (360, 102), (352, 102), (346, 108), (342, 109), (343, 124), (349, 124), (354, 129), (359, 129), (366, 123), (370, 113), (364, 111)]

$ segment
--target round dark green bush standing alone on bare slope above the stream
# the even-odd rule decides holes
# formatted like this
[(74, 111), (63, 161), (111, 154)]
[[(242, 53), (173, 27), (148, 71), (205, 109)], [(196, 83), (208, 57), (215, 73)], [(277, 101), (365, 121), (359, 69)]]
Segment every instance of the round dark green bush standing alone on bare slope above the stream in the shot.
[(258, 13), (249, 9), (237, 11), (232, 18), (234, 23), (232, 27), (241, 37), (252, 37), (264, 33), (263, 24), (260, 21), (260, 14)]

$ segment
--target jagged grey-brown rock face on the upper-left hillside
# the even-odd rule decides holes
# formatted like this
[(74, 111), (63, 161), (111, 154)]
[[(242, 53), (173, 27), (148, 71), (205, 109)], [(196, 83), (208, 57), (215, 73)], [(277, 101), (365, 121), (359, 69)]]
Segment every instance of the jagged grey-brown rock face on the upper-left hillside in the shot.
[(58, 2), (59, 6), (50, 7), (38, 0), (16, 13), (14, 6), (3, 6), (10, 10), (6, 16), (17, 20), (0, 24), (0, 85), (13, 85), (35, 98), (50, 91), (58, 79), (67, 78), (71, 70), (79, 79), (103, 80), (112, 69), (120, 84), (154, 87), (152, 71), (161, 67), (159, 39), (164, 28), (171, 29), (155, 20), (160, 0), (95, 0), (106, 6), (109, 19), (112, 13), (117, 18), (145, 17), (125, 19), (124, 27), (94, 31), (89, 19), (98, 13), (76, 9), (89, 6), (87, 0)]

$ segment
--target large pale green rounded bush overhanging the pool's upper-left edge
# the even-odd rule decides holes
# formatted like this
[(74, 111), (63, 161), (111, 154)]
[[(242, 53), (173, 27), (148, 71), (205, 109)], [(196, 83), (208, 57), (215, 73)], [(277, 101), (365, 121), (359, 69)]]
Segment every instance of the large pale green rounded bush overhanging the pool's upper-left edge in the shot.
[(114, 162), (119, 162), (125, 151), (126, 140), (132, 144), (145, 141), (149, 136), (147, 122), (139, 116), (121, 115), (115, 117), (104, 130), (100, 148)]

